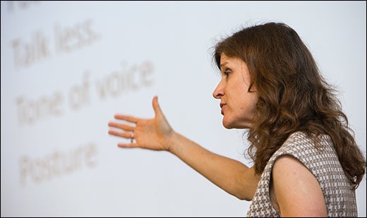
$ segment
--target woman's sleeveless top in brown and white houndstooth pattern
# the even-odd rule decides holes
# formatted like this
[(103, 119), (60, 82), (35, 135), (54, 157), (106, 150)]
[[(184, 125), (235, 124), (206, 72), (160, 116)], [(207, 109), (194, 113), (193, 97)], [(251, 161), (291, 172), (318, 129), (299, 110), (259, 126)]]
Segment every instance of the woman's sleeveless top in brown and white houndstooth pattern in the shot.
[(247, 217), (280, 217), (270, 201), (270, 175), (272, 166), (281, 155), (291, 155), (302, 162), (320, 183), (325, 198), (327, 217), (357, 217), (356, 195), (328, 135), (318, 138), (315, 148), (313, 138), (296, 132), (267, 162), (258, 188), (246, 214)]

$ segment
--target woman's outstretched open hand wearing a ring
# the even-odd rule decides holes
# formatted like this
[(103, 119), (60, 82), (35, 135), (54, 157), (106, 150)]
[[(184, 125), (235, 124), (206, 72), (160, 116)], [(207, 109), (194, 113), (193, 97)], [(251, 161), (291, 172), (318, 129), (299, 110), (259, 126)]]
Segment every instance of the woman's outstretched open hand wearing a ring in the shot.
[(174, 131), (165, 118), (162, 109), (160, 109), (157, 96), (153, 97), (152, 106), (155, 111), (153, 119), (140, 119), (123, 114), (114, 115), (116, 120), (126, 122), (110, 121), (108, 126), (115, 129), (110, 129), (108, 131), (109, 135), (116, 135), (131, 140), (129, 143), (118, 143), (119, 147), (169, 150), (169, 139), (174, 134)]

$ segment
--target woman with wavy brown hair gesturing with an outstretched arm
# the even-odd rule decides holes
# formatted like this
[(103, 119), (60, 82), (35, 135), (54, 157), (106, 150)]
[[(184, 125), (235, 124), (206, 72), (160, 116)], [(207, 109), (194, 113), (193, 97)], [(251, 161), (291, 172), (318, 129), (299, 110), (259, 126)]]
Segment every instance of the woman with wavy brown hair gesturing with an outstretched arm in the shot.
[[(216, 155), (176, 133), (152, 100), (155, 118), (116, 114), (119, 147), (166, 150), (241, 200), (248, 217), (357, 217), (355, 190), (366, 172), (347, 116), (299, 35), (284, 23), (244, 28), (215, 46), (225, 128), (247, 130), (253, 166)], [(136, 140), (136, 142), (133, 141)]]

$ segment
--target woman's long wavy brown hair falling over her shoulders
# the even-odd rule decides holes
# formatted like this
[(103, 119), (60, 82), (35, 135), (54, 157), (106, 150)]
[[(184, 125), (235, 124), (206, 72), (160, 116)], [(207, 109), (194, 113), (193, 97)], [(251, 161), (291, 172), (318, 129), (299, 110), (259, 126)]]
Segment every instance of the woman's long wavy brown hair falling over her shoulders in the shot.
[(267, 161), (291, 133), (313, 137), (330, 135), (339, 162), (353, 184), (366, 173), (366, 158), (349, 128), (336, 90), (320, 74), (311, 52), (295, 30), (284, 23), (243, 28), (218, 42), (213, 58), (234, 56), (248, 66), (251, 85), (258, 94), (253, 126), (248, 130), (248, 155), (261, 174)]

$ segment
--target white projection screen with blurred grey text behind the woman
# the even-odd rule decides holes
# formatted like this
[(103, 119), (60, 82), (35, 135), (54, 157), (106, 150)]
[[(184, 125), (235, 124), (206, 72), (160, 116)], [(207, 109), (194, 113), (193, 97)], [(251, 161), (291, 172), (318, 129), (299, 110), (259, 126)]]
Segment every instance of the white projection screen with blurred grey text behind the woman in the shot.
[[(174, 155), (116, 147), (107, 123), (152, 117), (158, 95), (176, 131), (248, 164), (210, 47), (264, 21), (299, 32), (366, 152), (366, 1), (1, 1), (1, 217), (245, 216)], [(356, 194), (366, 217), (366, 178)]]

